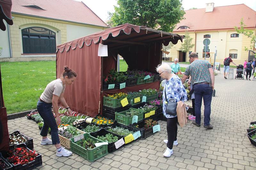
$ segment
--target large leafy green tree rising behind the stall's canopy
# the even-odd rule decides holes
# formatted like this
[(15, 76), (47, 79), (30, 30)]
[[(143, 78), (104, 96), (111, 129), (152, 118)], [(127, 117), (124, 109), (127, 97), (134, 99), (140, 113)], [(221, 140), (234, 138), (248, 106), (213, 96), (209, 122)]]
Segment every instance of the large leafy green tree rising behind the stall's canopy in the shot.
[(182, 0), (117, 0), (112, 14), (113, 26), (130, 23), (172, 32), (183, 19)]

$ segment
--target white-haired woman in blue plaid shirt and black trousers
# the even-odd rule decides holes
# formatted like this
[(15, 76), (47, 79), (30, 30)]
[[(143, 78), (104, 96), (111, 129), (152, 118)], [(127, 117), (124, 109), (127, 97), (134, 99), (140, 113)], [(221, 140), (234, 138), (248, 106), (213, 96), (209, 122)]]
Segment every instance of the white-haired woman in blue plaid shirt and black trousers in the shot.
[(160, 76), (165, 79), (162, 82), (162, 85), (164, 85), (163, 90), (163, 113), (164, 116), (167, 118), (167, 140), (164, 140), (164, 143), (167, 144), (166, 151), (164, 152), (164, 157), (170, 157), (173, 154), (172, 146), (178, 145), (177, 140), (177, 122), (178, 117), (177, 115), (172, 116), (165, 113), (166, 105), (165, 104), (165, 92), (166, 92), (166, 98), (167, 101), (169, 99), (174, 99), (175, 102), (182, 101), (183, 103), (187, 100), (187, 92), (185, 88), (183, 87), (183, 84), (180, 80), (180, 78), (172, 73), (172, 68), (168, 64), (159, 64), (156, 67), (156, 71), (160, 74)]

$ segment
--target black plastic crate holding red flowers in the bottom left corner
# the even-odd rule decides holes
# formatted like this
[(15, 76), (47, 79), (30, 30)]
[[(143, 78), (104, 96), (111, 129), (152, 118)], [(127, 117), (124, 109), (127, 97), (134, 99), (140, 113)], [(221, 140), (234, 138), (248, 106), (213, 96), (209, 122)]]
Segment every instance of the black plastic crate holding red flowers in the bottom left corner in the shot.
[[(26, 144), (20, 144), (19, 147), (26, 147), (28, 150), (31, 150), (27, 147)], [(13, 170), (30, 170), (30, 169), (34, 169), (36, 168), (37, 166), (41, 166), (42, 165), (42, 155), (38, 153), (38, 155), (36, 156), (35, 160), (27, 163), (27, 164), (24, 164), (24, 165), (21, 165), (21, 164), (12, 164), (13, 166)]]

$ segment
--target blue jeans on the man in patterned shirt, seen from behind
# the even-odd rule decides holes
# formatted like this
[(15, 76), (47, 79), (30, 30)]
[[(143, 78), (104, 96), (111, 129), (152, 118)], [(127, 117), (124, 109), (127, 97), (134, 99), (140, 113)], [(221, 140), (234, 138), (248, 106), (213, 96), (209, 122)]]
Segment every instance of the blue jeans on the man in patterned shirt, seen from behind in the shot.
[(209, 84), (195, 84), (195, 112), (196, 123), (201, 124), (201, 106), (202, 98), (204, 99), (204, 125), (210, 124), (212, 88)]

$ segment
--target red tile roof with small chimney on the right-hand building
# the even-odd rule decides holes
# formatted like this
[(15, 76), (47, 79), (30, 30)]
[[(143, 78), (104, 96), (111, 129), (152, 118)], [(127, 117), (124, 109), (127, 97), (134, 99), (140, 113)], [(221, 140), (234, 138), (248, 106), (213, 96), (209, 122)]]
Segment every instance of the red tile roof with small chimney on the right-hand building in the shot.
[[(244, 18), (246, 28), (256, 26), (256, 11), (245, 4), (214, 7), (213, 12), (205, 12), (205, 8), (185, 12), (186, 19), (180, 21), (173, 32), (234, 29), (234, 26), (240, 26), (241, 18)], [(189, 28), (178, 29), (180, 26)]]

